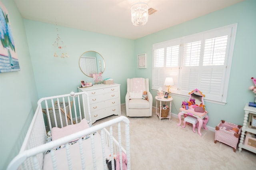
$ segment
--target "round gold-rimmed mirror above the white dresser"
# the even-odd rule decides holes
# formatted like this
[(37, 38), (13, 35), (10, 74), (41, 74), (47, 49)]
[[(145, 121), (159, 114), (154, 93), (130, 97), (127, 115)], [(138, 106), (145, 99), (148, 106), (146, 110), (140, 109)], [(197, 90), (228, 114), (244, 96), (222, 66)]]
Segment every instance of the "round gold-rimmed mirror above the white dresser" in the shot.
[(104, 72), (105, 60), (96, 51), (86, 51), (79, 59), (79, 66), (85, 75), (92, 77), (94, 73)]

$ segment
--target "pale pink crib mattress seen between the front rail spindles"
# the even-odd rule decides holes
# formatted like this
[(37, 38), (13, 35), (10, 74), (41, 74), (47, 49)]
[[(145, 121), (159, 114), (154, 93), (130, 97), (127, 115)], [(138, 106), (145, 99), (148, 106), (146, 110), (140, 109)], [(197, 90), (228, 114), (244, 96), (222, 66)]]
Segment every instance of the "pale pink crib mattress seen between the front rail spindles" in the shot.
[[(94, 169), (93, 160), (92, 160), (91, 139), (88, 138), (86, 140), (83, 140), (82, 142), (83, 142), (83, 152), (84, 152), (84, 161), (85, 161), (86, 169)], [(95, 157), (96, 157), (97, 169), (99, 170), (104, 169), (103, 161), (102, 161), (101, 139), (98, 133), (94, 134), (94, 146), (95, 146), (95, 155), (96, 155)], [(56, 156), (57, 168), (60, 170), (68, 170), (66, 149), (62, 148), (59, 150), (55, 150), (54, 153)], [(106, 153), (106, 158), (108, 158), (110, 155), (110, 149), (108, 148), (108, 146), (105, 146), (105, 153)], [(73, 145), (70, 145), (70, 156), (71, 156), (71, 162), (72, 162), (72, 169), (82, 169), (79, 142)], [(50, 153), (44, 156), (43, 169), (44, 170), (53, 169), (52, 158)]]

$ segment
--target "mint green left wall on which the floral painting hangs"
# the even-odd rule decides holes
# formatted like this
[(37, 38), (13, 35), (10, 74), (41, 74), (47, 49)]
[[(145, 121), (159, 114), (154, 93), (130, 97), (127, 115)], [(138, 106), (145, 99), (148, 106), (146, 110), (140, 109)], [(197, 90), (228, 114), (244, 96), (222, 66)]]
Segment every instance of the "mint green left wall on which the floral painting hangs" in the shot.
[(8, 10), (20, 71), (0, 73), (0, 169), (16, 156), (36, 110), (38, 94), (24, 22), (13, 0)]

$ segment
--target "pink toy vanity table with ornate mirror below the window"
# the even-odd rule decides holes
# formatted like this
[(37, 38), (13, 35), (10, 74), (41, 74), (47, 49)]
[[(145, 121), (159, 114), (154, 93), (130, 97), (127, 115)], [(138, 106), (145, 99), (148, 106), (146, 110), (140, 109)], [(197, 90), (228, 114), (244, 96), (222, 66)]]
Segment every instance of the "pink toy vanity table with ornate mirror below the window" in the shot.
[[(206, 127), (206, 124), (209, 120), (208, 112), (205, 110), (203, 112), (198, 112), (198, 111), (195, 111), (195, 108), (200, 106), (204, 108), (204, 95), (198, 89), (194, 89), (188, 94), (190, 95), (188, 102), (192, 101), (192, 104), (190, 103), (191, 105), (188, 106), (188, 109), (185, 109), (183, 107), (180, 108), (180, 113), (178, 113), (179, 123), (177, 124), (177, 126), (181, 125), (182, 115), (184, 115), (184, 117), (186, 116), (195, 117), (198, 120), (198, 123), (196, 123), (196, 128), (198, 128), (198, 134), (202, 136), (201, 127), (204, 125), (204, 129), (208, 130), (208, 128)], [(185, 127), (185, 124), (182, 127)]]

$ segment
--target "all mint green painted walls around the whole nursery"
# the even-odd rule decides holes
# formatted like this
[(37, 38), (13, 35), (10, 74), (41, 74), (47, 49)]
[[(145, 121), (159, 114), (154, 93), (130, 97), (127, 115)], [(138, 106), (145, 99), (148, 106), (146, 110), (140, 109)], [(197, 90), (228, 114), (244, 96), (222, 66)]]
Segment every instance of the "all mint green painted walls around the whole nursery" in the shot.
[[(127, 78), (148, 77), (152, 85), (154, 43), (238, 23), (227, 104), (205, 103), (210, 117), (208, 125), (215, 127), (221, 119), (242, 124), (244, 105), (254, 100), (253, 93), (248, 90), (253, 85), (250, 77), (256, 77), (254, 0), (246, 0), (138, 40), (58, 26), (60, 38), (67, 46), (68, 58), (53, 57), (52, 44), (57, 37), (54, 24), (22, 19), (13, 0), (2, 2), (9, 12), (21, 71), (0, 73), (0, 134), (4, 136), (0, 138), (0, 169), (5, 169), (18, 153), (38, 98), (77, 92), (81, 80), (92, 82), (78, 65), (85, 51), (97, 51), (104, 57), (103, 79), (111, 77), (115, 83), (121, 84), (121, 103), (125, 103)], [(147, 53), (147, 69), (137, 69), (137, 55), (141, 53)], [(156, 91), (151, 92), (156, 95)], [(186, 98), (172, 97), (172, 113), (178, 114), (181, 102)]]

